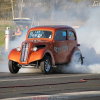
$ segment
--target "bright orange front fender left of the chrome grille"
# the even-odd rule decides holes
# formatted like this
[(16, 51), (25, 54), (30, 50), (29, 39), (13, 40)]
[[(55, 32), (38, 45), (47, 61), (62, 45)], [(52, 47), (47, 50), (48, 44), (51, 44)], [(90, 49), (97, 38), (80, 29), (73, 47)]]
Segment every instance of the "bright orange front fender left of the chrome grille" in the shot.
[(21, 55), (21, 52), (18, 52), (16, 49), (13, 49), (10, 51), (10, 53), (8, 55), (8, 59), (13, 60), (15, 62), (19, 62), (20, 55)]

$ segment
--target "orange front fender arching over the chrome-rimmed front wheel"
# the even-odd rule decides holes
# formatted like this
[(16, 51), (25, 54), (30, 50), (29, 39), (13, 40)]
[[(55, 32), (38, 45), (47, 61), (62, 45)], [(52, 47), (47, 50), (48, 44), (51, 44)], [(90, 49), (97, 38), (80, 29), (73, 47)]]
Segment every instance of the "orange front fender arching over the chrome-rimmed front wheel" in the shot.
[(46, 53), (49, 53), (51, 55), (52, 65), (55, 65), (55, 60), (54, 60), (53, 54), (48, 49), (39, 49), (36, 52), (32, 52), (31, 55), (30, 55), (29, 63), (43, 59), (43, 57)]

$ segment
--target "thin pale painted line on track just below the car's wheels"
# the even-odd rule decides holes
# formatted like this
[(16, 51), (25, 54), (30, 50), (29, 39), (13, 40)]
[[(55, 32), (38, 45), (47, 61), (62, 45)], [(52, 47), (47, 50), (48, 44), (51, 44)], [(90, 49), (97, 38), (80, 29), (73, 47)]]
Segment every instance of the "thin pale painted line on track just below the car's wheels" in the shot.
[(66, 74), (64, 74), (64, 76), (52, 76), (52, 77), (37, 77), (37, 78), (24, 78), (23, 79), (23, 77), (22, 78), (20, 78), (20, 79), (3, 79), (3, 80), (0, 80), (0, 82), (3, 82), (3, 81), (19, 81), (19, 80), (21, 80), (21, 81), (23, 81), (23, 80), (37, 80), (37, 79), (49, 79), (49, 78), (63, 78), (63, 77), (77, 77), (77, 76), (89, 76), (89, 75), (93, 75), (93, 74), (80, 74), (80, 75), (76, 75), (75, 76), (75, 74), (74, 75), (69, 75), (69, 76), (65, 76)]

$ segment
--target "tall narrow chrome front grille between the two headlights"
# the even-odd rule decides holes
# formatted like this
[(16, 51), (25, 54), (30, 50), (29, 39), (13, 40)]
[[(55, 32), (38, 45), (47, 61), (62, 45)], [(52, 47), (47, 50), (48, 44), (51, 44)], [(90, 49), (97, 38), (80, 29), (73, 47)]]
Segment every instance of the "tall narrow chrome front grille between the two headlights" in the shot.
[(26, 62), (28, 55), (29, 43), (23, 43), (21, 52), (21, 62)]

